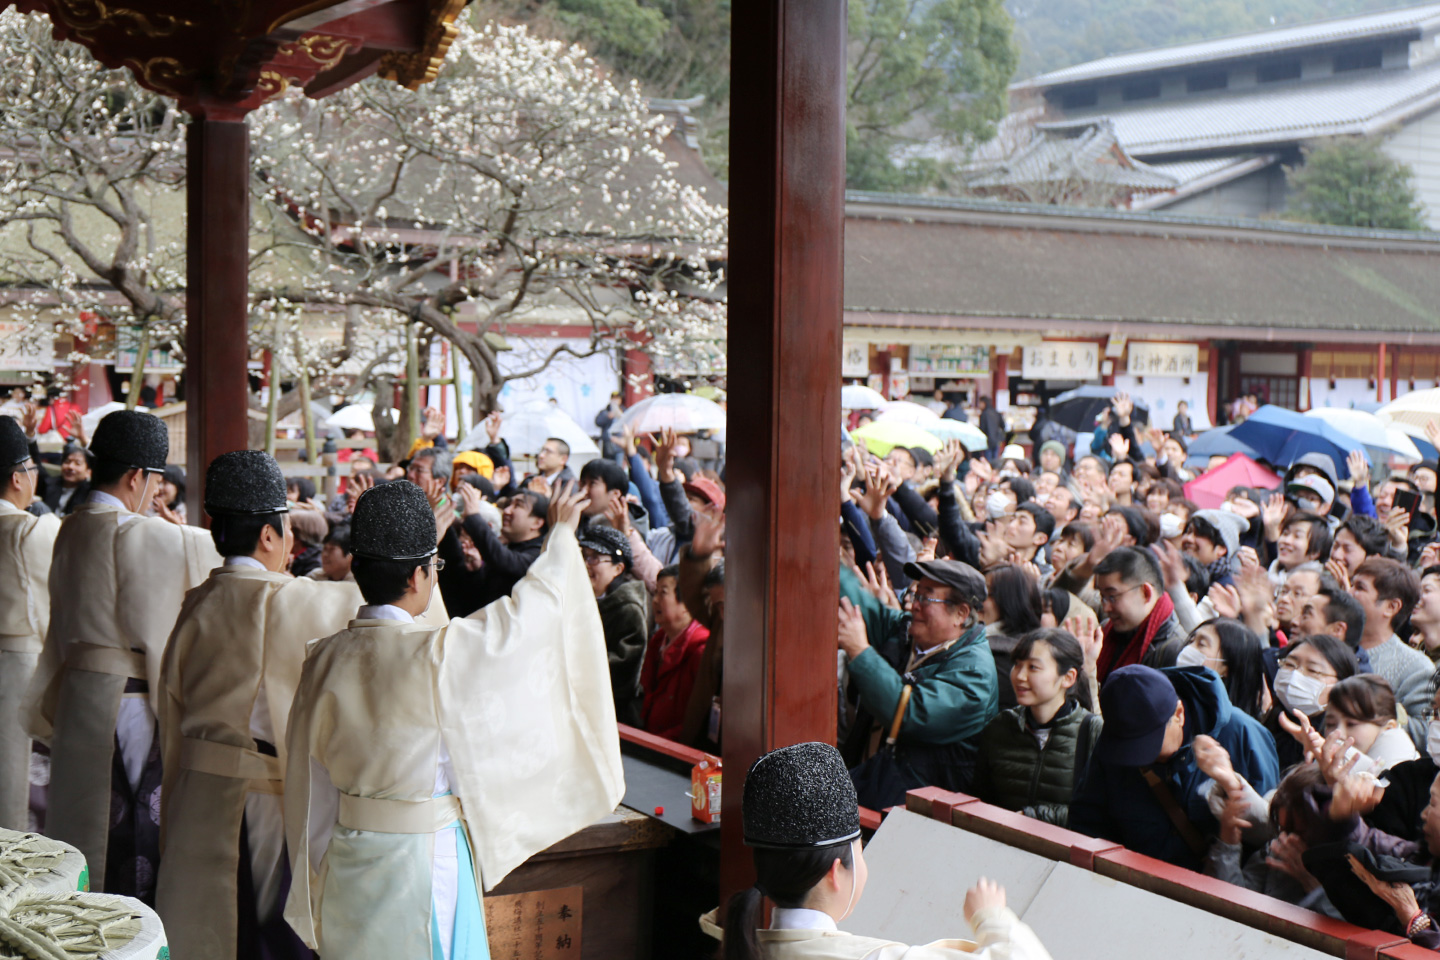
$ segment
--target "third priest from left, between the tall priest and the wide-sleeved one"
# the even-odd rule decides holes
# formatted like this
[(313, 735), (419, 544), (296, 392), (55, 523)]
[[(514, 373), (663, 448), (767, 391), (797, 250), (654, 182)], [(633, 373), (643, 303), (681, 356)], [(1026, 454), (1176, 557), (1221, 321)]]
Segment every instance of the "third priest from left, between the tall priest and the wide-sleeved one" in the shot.
[(166, 646), (156, 905), (177, 957), (310, 957), (281, 917), (285, 721), (305, 645), (343, 629), (360, 590), (285, 573), (289, 501), (271, 455), (217, 456), (204, 512), (225, 564)]

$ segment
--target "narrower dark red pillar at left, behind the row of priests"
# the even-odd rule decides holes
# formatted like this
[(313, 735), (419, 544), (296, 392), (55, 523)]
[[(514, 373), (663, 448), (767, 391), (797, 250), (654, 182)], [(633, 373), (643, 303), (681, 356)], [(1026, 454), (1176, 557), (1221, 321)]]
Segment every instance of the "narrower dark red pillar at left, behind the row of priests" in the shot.
[(249, 446), (249, 131), (242, 115), (197, 115), (186, 134), (186, 486), (204, 517), (204, 469)]

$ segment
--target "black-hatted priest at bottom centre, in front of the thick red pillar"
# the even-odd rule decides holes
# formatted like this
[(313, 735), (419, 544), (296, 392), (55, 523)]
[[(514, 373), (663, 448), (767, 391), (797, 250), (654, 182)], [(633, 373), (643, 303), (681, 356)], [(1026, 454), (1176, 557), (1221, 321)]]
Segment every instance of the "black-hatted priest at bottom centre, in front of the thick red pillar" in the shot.
[[(981, 879), (965, 895), (975, 940), (907, 946), (840, 930), (865, 892), (860, 812), (845, 763), (829, 744), (773, 750), (744, 777), (744, 843), (756, 882), (726, 905), (724, 960), (1048, 960), (1034, 931)], [(765, 898), (775, 902), (760, 928)], [(714, 924), (714, 914), (704, 923)]]

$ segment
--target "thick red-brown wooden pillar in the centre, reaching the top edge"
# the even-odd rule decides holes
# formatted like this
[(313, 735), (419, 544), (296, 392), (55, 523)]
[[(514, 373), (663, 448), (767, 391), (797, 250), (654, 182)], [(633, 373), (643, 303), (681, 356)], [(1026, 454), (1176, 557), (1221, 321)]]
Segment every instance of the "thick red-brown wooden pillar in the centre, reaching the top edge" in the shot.
[(721, 898), (755, 759), (835, 737), (845, 4), (732, 16)]

